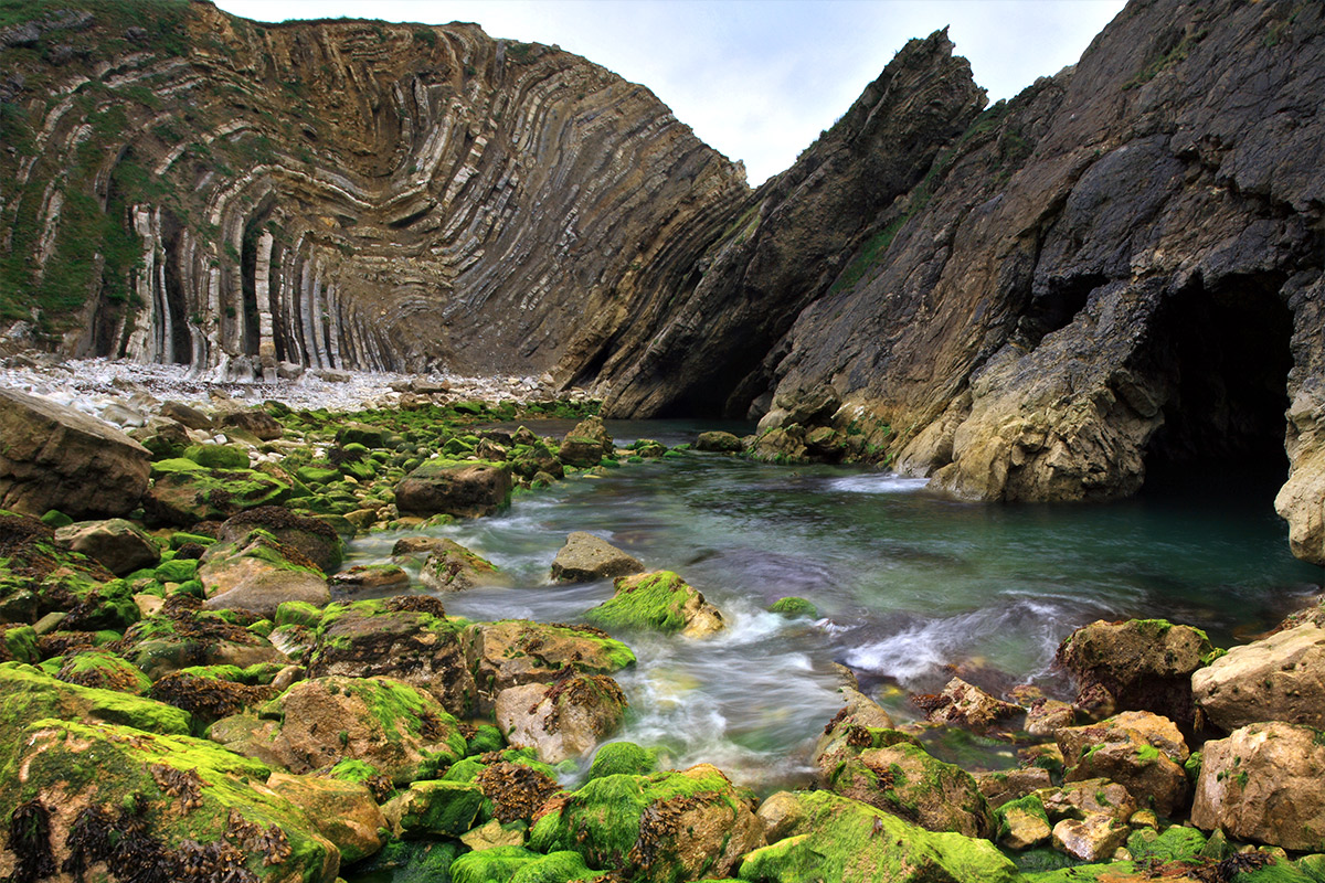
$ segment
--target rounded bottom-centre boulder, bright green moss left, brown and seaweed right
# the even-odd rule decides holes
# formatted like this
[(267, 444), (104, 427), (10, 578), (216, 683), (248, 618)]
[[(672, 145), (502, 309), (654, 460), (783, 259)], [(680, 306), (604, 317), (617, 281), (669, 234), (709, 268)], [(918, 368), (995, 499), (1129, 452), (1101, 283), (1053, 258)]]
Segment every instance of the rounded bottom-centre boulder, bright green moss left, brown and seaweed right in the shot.
[(579, 853), (590, 867), (640, 883), (727, 876), (763, 845), (763, 826), (708, 764), (651, 776), (604, 776), (554, 801), (530, 830), (534, 850)]

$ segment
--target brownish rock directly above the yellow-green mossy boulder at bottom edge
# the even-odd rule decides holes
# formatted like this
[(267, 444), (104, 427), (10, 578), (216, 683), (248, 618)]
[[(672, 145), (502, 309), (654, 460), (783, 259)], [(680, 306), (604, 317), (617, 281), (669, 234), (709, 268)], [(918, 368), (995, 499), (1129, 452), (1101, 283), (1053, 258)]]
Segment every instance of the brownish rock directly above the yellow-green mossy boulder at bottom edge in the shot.
[[(856, 744), (824, 785), (930, 831), (990, 837), (994, 819), (970, 773), (892, 729), (852, 731)], [(823, 769), (823, 768), (820, 768)]]

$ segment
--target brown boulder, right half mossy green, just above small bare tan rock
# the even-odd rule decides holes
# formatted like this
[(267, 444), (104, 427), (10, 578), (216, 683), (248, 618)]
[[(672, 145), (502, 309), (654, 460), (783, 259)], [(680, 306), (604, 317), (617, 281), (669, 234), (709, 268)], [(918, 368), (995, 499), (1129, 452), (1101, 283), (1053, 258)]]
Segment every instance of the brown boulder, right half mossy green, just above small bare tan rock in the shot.
[(292, 773), (351, 759), (398, 785), (432, 778), (465, 753), (456, 719), (425, 691), (391, 678), (299, 680), (256, 716), (224, 718), (208, 735)]

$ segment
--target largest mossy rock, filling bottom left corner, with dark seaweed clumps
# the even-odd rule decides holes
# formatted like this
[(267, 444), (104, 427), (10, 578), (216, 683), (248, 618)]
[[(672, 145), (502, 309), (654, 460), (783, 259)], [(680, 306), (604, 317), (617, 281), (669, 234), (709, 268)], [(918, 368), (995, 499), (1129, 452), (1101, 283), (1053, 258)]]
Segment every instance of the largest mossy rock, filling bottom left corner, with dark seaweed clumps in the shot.
[(97, 721), (48, 718), (16, 735), (0, 804), (33, 822), (24, 854), (44, 854), (74, 879), (93, 868), (121, 880), (199, 879), (197, 868), (212, 879), (337, 878), (335, 846), (261, 785), (270, 770), (260, 763), (205, 740)]

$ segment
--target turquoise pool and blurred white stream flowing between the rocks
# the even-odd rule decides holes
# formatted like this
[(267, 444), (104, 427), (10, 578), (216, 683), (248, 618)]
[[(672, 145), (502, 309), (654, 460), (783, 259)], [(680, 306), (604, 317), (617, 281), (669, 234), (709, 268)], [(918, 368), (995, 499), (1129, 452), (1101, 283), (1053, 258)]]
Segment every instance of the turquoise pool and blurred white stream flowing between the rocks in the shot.
[[(676, 445), (702, 428), (608, 424), (619, 445)], [(920, 712), (906, 696), (954, 671), (991, 690), (1065, 695), (1053, 651), (1097, 618), (1166, 617), (1220, 646), (1273, 625), (1322, 579), (1289, 555), (1273, 491), (1222, 478), (1113, 504), (991, 506), (877, 471), (692, 454), (572, 477), (517, 495), (505, 514), (431, 532), (514, 577), (515, 588), (445, 596), (448, 613), (472, 620), (574, 622), (611, 597), (610, 581), (550, 582), (571, 531), (681, 573), (729, 629), (702, 641), (620, 635), (639, 663), (617, 675), (631, 702), (617, 737), (768, 792), (808, 781), (814, 740), (840, 707), (835, 663), (908, 719)], [(347, 564), (387, 560), (400, 536), (360, 537)], [(788, 594), (819, 618), (765, 612)], [(980, 763), (1011, 763), (1011, 752)]]

